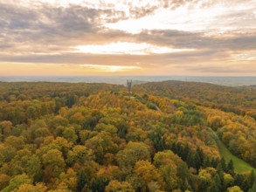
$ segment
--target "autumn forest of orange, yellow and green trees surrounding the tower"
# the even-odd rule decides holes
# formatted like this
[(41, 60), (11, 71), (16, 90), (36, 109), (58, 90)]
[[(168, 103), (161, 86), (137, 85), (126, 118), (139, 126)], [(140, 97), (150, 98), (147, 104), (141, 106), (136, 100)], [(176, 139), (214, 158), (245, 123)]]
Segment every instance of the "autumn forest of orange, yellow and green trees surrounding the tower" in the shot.
[(256, 86), (0, 82), (0, 190), (256, 191)]

